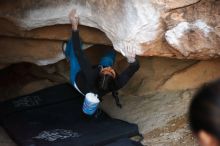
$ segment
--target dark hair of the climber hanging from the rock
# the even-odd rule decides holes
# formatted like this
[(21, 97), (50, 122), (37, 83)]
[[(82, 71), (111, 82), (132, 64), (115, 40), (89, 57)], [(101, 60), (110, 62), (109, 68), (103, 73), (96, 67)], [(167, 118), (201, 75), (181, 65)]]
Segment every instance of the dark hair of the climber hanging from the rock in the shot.
[(98, 88), (103, 91), (112, 90), (112, 85), (114, 83), (114, 78), (108, 74), (99, 74), (98, 78)]

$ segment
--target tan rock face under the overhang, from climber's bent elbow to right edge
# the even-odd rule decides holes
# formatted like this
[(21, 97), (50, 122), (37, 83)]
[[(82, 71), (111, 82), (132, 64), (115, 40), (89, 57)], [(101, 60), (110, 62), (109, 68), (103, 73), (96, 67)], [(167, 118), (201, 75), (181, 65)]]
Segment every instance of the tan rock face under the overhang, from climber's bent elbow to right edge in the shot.
[[(176, 60), (169, 58), (139, 58), (142, 66), (123, 88), (124, 94), (143, 96), (154, 91), (195, 89), (220, 78), (220, 60)], [(119, 60), (116, 68), (122, 70), (125, 60)]]

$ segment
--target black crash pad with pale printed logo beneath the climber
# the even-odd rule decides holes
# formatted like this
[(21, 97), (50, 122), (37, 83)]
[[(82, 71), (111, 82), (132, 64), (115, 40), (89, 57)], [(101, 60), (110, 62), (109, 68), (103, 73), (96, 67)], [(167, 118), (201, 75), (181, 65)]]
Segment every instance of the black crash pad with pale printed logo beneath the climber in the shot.
[(70, 84), (49, 87), (0, 103), (0, 122), (19, 146), (102, 146), (139, 135), (101, 110), (88, 118), (83, 99)]

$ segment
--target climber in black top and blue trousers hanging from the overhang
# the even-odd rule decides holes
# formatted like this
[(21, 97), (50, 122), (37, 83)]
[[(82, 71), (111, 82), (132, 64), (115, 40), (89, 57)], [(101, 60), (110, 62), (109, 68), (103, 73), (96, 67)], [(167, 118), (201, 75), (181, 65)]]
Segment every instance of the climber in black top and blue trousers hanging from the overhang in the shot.
[(72, 24), (72, 37), (63, 45), (63, 51), (66, 58), (70, 61), (71, 84), (83, 96), (92, 92), (100, 100), (105, 94), (112, 92), (116, 104), (121, 107), (117, 90), (122, 88), (139, 69), (138, 60), (135, 58), (135, 55), (128, 57), (128, 67), (121, 74), (117, 74), (112, 67), (116, 52), (111, 50), (101, 58), (99, 65), (92, 66), (81, 48), (78, 31), (79, 18), (75, 10), (70, 12), (69, 19)]

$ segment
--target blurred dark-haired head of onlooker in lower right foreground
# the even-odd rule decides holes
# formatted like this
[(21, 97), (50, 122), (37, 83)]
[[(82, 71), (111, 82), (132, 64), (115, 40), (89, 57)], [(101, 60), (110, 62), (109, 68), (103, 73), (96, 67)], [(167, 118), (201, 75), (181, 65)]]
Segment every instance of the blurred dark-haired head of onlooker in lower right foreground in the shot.
[(220, 80), (204, 85), (194, 96), (189, 124), (202, 146), (220, 145)]

